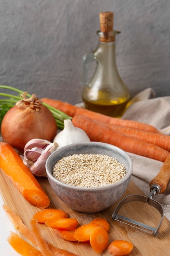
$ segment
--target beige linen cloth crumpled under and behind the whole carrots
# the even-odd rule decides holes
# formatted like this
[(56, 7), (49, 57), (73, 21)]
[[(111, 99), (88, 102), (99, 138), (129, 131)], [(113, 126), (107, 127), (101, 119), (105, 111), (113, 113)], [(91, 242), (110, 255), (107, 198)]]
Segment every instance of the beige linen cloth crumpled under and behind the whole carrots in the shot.
[[(130, 119), (155, 126), (166, 135), (170, 135), (170, 97), (155, 97), (152, 88), (148, 88), (135, 96), (128, 106), (122, 119)], [(149, 183), (157, 175), (162, 162), (128, 153), (133, 162), (132, 181), (137, 184), (145, 195), (150, 194)], [(167, 189), (155, 195), (163, 207), (164, 215), (170, 220), (170, 182)]]

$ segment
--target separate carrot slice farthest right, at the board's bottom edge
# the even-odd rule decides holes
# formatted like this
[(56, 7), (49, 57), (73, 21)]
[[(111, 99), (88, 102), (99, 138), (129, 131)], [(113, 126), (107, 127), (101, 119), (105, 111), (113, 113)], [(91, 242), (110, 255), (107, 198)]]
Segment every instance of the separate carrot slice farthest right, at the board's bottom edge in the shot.
[(132, 252), (132, 243), (124, 240), (115, 240), (108, 245), (108, 252), (113, 256), (124, 256)]

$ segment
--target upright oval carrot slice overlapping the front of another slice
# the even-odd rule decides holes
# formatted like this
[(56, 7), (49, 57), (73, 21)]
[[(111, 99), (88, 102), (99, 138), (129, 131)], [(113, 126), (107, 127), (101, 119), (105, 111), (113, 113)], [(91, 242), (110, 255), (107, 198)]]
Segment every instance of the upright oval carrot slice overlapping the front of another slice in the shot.
[(108, 233), (103, 227), (96, 227), (90, 235), (90, 244), (97, 253), (103, 252), (108, 246)]

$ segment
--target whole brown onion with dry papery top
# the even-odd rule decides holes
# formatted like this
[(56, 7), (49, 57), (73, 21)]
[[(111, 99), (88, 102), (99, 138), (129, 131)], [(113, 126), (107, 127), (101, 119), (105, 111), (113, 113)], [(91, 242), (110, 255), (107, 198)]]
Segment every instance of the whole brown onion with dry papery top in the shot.
[(33, 94), (16, 103), (4, 116), (1, 124), (1, 136), (4, 142), (13, 148), (24, 150), (31, 139), (39, 138), (53, 141), (57, 133), (57, 124), (51, 111)]

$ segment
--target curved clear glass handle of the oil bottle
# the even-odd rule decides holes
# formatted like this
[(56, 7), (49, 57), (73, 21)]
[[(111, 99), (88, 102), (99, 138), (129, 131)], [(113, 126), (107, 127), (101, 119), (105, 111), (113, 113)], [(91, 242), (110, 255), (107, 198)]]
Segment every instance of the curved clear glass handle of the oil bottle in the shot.
[(84, 54), (82, 57), (82, 72), (81, 72), (81, 83), (82, 85), (88, 85), (88, 65), (89, 63), (96, 61), (94, 52)]

